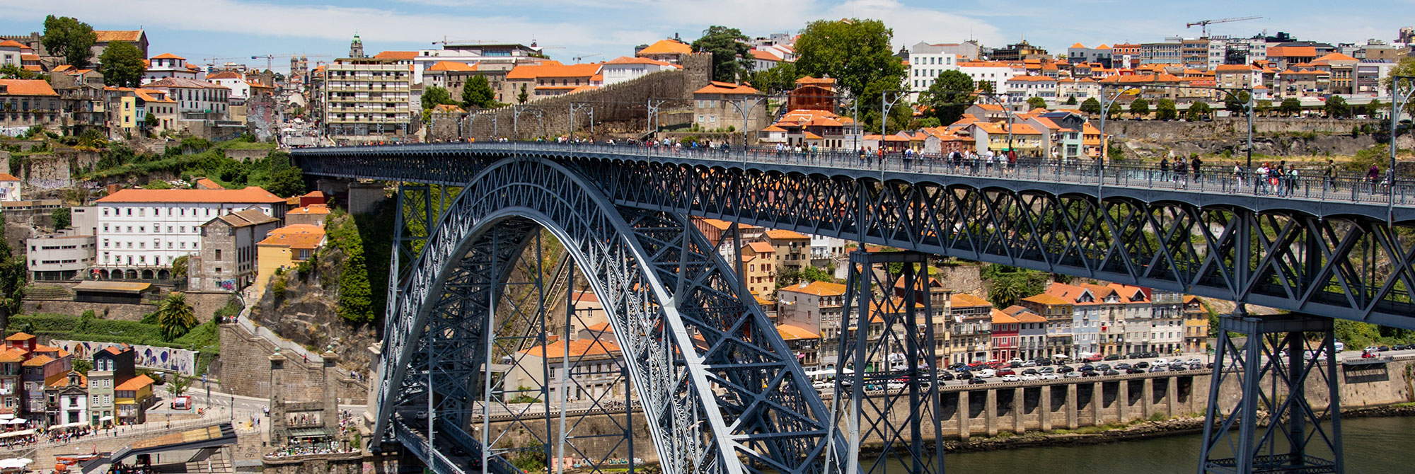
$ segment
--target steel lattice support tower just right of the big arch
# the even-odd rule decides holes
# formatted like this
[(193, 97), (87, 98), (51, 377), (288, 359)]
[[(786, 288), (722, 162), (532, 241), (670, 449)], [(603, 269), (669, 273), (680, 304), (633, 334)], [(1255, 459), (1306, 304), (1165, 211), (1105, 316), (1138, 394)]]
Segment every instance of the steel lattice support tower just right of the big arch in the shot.
[[(891, 263), (901, 263), (897, 273)], [(828, 457), (843, 471), (826, 471), (886, 473), (899, 463), (913, 474), (942, 474), (928, 255), (850, 252), (846, 286), (832, 403), (850, 403), (849, 450)], [(908, 413), (899, 413), (900, 407)], [(924, 439), (925, 429), (932, 430), (932, 441)], [(862, 467), (865, 441), (880, 443), (880, 456)]]

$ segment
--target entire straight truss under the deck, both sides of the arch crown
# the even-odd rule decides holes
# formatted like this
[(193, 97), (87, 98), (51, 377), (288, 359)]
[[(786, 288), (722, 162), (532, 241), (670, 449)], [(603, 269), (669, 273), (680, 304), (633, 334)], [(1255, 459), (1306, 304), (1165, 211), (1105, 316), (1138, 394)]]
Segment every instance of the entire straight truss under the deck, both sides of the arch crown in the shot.
[(494, 158), (535, 156), (574, 167), (623, 207), (1415, 328), (1415, 208), (1405, 205), (641, 151), (492, 143), (294, 158), (318, 175), (457, 185)]

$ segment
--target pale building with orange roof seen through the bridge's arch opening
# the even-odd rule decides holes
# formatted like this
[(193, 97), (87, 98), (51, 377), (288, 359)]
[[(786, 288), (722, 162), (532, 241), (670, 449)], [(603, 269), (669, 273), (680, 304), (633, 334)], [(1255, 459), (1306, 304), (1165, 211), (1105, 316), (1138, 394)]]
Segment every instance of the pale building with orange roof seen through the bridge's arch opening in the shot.
[[(627, 388), (617, 381), (620, 368), (624, 366), (624, 355), (613, 341), (556, 340), (512, 352), (509, 358), (509, 369), (502, 382), (507, 399), (526, 396), (539, 400), (542, 386), (548, 391), (550, 403), (559, 403), (562, 399), (607, 402), (627, 398), (624, 392)], [(545, 368), (549, 368), (556, 378), (546, 381)], [(569, 374), (572, 381), (559, 383), (560, 374)], [(560, 392), (562, 385), (565, 393)]]

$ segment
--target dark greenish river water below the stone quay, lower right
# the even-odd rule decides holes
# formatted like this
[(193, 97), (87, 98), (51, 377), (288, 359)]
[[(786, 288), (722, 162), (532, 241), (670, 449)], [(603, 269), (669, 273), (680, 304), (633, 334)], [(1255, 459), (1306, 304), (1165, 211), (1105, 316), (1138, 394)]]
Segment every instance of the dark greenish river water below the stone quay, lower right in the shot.
[[(1341, 420), (1346, 471), (1415, 473), (1415, 417)], [(1203, 434), (1167, 436), (1112, 444), (1024, 447), (1002, 451), (948, 453), (947, 473), (1140, 473), (1194, 474)], [(1316, 453), (1313, 453), (1316, 454)], [(906, 473), (903, 466), (889, 473)]]

